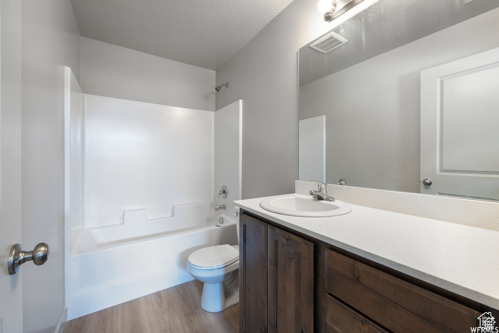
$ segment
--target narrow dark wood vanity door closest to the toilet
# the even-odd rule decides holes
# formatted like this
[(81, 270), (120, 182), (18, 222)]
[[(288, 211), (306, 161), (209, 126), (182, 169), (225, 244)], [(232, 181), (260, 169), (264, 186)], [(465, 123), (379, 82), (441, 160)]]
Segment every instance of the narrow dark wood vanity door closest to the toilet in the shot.
[(239, 332), (267, 332), (268, 225), (240, 217)]

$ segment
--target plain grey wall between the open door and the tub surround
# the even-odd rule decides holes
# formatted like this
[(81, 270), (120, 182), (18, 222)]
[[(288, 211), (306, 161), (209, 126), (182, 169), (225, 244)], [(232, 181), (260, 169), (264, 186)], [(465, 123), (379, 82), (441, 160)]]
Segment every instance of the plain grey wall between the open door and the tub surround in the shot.
[(64, 67), (79, 76), (80, 36), (67, 0), (21, 1), (22, 247), (50, 247), (23, 270), (23, 331), (54, 332), (64, 308)]

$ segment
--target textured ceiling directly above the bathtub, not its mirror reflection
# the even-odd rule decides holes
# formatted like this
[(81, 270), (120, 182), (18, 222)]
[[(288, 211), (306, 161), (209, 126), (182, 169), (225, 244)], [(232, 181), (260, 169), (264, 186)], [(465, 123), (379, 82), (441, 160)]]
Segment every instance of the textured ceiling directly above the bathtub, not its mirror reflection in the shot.
[(71, 0), (84, 37), (217, 69), (292, 0)]

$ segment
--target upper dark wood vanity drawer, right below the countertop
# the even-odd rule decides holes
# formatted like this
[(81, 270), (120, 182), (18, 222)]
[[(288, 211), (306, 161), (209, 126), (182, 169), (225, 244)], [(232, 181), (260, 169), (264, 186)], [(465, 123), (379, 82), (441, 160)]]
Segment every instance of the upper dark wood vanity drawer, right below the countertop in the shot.
[(394, 333), (468, 332), (481, 315), (328, 249), (326, 291)]

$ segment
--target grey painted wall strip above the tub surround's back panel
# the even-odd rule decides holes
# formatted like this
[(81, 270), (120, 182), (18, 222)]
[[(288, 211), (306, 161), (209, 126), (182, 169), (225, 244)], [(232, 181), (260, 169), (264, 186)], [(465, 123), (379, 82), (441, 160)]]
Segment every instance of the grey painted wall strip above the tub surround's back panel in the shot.
[(88, 94), (215, 111), (215, 71), (81, 37)]

